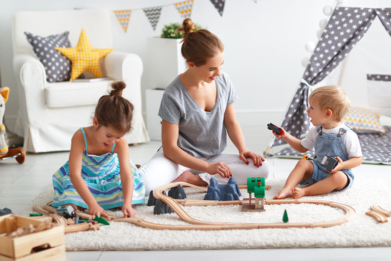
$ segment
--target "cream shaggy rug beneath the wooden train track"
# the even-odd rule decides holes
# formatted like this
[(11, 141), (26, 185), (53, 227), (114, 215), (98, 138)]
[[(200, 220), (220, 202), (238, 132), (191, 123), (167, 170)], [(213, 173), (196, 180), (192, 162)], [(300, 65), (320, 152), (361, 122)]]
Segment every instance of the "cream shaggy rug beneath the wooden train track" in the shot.
[[(266, 199), (271, 199), (282, 188), (284, 179), (267, 179)], [(185, 188), (189, 199), (203, 199), (204, 193)], [(242, 196), (248, 197), (246, 190)], [(22, 215), (31, 213), (31, 206), (44, 205), (52, 199), (48, 186)], [(356, 178), (353, 186), (343, 192), (303, 199), (328, 200), (353, 207), (356, 215), (348, 223), (328, 228), (274, 228), (219, 231), (153, 230), (124, 222), (101, 225), (99, 231), (78, 232), (65, 235), (67, 251), (80, 250), (184, 250), (184, 249), (249, 249), (298, 247), (368, 247), (391, 246), (391, 217), (387, 223), (378, 223), (365, 214), (371, 205), (391, 210), (391, 196), (381, 181)], [(147, 198), (148, 200), (148, 198)], [(147, 201), (146, 201), (147, 202)], [(266, 205), (265, 212), (241, 212), (241, 206), (183, 207), (196, 219), (218, 222), (275, 223), (282, 222), (286, 209), (289, 222), (321, 222), (338, 219), (345, 212), (324, 205), (283, 204)], [(120, 211), (109, 212), (122, 217)], [(173, 214), (154, 215), (153, 207), (136, 207), (136, 216), (161, 224), (188, 224)]]

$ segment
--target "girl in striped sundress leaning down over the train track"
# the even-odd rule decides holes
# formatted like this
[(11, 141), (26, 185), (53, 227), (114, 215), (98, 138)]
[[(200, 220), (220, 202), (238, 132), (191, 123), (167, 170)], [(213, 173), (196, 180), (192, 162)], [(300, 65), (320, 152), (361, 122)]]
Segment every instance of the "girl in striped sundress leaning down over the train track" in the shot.
[(112, 83), (110, 94), (98, 101), (92, 126), (73, 135), (69, 160), (53, 175), (53, 207), (88, 208), (104, 217), (105, 209), (122, 207), (124, 217), (134, 217), (132, 204), (144, 203), (144, 182), (123, 138), (133, 115), (133, 105), (122, 97), (125, 87)]

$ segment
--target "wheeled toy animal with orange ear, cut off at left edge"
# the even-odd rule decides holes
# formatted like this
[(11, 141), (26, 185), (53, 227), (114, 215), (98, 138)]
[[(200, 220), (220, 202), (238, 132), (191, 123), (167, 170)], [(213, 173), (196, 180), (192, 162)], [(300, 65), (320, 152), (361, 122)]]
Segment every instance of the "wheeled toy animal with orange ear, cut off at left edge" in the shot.
[(5, 141), (5, 125), (3, 124), (3, 116), (5, 112), (5, 102), (8, 100), (9, 88), (0, 89), (0, 161), (8, 158), (16, 158), (19, 164), (22, 164), (26, 159), (26, 153), (22, 147), (8, 148)]

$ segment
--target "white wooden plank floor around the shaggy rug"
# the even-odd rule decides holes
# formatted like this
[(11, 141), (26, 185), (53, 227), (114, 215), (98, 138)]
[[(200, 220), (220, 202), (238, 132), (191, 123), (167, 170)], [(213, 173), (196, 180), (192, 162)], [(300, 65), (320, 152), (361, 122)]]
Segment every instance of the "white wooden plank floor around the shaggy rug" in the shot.
[[(266, 127), (243, 127), (248, 149), (262, 154), (271, 134)], [(152, 141), (130, 146), (130, 158), (135, 164), (145, 163), (160, 147)], [(236, 152), (232, 143), (227, 152)], [(47, 185), (52, 174), (63, 165), (68, 152), (27, 154), (19, 165), (16, 160), (0, 161), (0, 209), (10, 208), (20, 213)], [(287, 177), (296, 160), (267, 159), (271, 177)], [(356, 176), (380, 177), (391, 192), (391, 166), (363, 164), (354, 169)], [(390, 235), (391, 238), (391, 235)], [(321, 246), (320, 246), (321, 247)], [(252, 249), (252, 250), (196, 250), (196, 251), (84, 251), (67, 252), (69, 261), (121, 261), (121, 260), (391, 260), (391, 248), (306, 248), (306, 249)]]

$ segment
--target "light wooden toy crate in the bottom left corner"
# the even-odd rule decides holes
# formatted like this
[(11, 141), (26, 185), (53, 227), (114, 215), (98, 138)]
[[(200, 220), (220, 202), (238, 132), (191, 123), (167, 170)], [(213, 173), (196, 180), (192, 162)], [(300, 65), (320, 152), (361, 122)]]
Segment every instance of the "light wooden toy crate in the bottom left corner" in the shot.
[[(0, 261), (65, 261), (64, 227), (55, 226), (19, 237), (6, 234), (17, 228), (42, 225), (43, 221), (7, 214), (0, 216)], [(43, 250), (36, 252), (41, 247)]]

